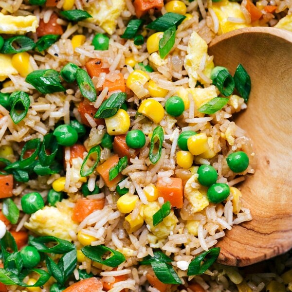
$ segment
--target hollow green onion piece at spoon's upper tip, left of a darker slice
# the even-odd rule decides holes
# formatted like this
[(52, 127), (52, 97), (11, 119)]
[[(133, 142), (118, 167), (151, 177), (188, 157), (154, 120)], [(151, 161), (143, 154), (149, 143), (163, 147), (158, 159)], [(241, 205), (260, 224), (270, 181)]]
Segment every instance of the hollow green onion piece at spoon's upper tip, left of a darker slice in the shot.
[(211, 72), (211, 79), (224, 96), (229, 96), (234, 91), (234, 79), (225, 67), (215, 67)]

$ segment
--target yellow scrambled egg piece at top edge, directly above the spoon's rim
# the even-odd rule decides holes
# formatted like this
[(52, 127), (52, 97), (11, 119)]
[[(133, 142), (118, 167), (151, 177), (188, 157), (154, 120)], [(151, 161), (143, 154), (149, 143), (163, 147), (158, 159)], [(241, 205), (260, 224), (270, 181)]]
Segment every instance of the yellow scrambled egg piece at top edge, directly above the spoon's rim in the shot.
[[(250, 24), (245, 23), (245, 18), (240, 10), (240, 4), (237, 2), (230, 2), (222, 0), (213, 2), (212, 8), (219, 20), (218, 35), (228, 33), (238, 28), (250, 27)], [(243, 23), (235, 23), (228, 20), (229, 17), (242, 19)]]

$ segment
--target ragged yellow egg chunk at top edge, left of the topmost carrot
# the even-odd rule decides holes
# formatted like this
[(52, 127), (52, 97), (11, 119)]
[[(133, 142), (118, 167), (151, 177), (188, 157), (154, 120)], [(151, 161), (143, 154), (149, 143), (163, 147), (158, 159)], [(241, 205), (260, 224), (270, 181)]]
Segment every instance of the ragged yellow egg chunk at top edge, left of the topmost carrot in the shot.
[(108, 0), (99, 0), (85, 8), (92, 16), (87, 21), (98, 24), (108, 34), (112, 35), (116, 29), (117, 19), (125, 7), (125, 0), (111, 0), (111, 5), (109, 5)]

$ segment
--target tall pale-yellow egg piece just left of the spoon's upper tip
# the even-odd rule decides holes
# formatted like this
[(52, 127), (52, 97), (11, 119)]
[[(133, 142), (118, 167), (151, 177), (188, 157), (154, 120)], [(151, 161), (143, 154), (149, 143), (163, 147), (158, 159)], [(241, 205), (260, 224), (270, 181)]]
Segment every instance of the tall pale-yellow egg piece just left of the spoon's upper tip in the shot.
[(200, 68), (201, 60), (206, 55), (205, 70), (203, 73), (210, 78), (214, 63), (208, 55), (208, 45), (196, 32), (191, 34), (187, 46), (187, 55), (184, 59), (184, 68), (189, 75), (189, 86), (194, 88), (197, 81), (204, 84), (204, 80), (200, 78), (197, 70)]

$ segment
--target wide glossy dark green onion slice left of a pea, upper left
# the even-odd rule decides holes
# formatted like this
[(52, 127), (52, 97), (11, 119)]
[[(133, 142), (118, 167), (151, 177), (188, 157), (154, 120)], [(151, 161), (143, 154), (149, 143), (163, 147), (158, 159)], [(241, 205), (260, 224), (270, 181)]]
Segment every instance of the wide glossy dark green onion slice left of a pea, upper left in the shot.
[(43, 94), (66, 90), (61, 84), (59, 73), (53, 69), (33, 71), (26, 76), (25, 81)]

